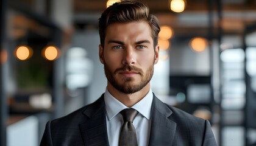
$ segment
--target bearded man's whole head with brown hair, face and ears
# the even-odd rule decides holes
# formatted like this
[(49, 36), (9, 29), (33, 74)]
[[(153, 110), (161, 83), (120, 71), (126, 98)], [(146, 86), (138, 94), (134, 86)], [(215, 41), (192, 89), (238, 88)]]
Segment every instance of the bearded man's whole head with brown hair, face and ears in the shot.
[(158, 61), (159, 30), (157, 18), (149, 15), (148, 6), (140, 2), (115, 3), (102, 13), (99, 58), (104, 64), (108, 91), (149, 91)]

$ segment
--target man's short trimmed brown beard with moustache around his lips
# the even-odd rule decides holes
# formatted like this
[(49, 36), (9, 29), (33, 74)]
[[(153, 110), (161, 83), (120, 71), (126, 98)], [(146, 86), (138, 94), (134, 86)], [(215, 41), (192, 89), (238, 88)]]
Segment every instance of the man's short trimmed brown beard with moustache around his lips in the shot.
[[(130, 66), (130, 65), (123, 66), (122, 68), (115, 69), (114, 72), (111, 72), (108, 64), (106, 64), (104, 61), (104, 71), (105, 71), (105, 75), (107, 77), (108, 82), (110, 82), (110, 84), (114, 88), (116, 88), (118, 91), (123, 92), (125, 94), (132, 94), (140, 91), (141, 89), (144, 88), (144, 86), (146, 86), (150, 82), (154, 73), (154, 63), (152, 63), (151, 66), (149, 66), (146, 72), (143, 72), (143, 70), (140, 68), (137, 68), (135, 66)], [(132, 83), (132, 82), (135, 82), (133, 78), (123, 77), (122, 78), (123, 82), (118, 83), (118, 78), (116, 78), (116, 75), (118, 74), (118, 72), (121, 72), (121, 71), (139, 72), (139, 75), (141, 76), (140, 82), (135, 84), (135, 83)]]

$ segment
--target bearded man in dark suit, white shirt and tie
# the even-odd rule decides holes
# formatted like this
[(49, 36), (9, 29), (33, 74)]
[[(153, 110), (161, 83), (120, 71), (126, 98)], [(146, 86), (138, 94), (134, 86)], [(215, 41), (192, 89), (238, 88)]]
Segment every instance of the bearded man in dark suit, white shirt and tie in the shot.
[[(48, 122), (41, 145), (216, 145), (207, 120), (166, 105), (151, 91), (159, 31), (157, 18), (140, 2), (108, 7), (99, 18), (99, 59), (108, 80), (105, 93)], [(122, 111), (127, 108), (138, 111), (129, 121), (128, 128), (134, 127), (129, 136), (129, 131), (123, 135)], [(129, 144), (123, 143), (126, 140)]]

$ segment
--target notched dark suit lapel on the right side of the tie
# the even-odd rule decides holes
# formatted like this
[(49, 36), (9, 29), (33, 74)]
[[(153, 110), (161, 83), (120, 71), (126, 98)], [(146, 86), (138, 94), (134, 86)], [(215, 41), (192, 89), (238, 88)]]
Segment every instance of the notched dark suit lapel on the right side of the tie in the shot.
[(176, 122), (168, 119), (172, 111), (154, 95), (149, 145), (172, 145)]

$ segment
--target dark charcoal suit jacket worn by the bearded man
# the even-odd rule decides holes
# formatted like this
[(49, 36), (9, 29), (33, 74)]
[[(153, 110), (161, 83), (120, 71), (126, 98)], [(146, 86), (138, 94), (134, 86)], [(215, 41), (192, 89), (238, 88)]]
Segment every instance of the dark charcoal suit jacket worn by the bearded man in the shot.
[[(216, 141), (208, 120), (191, 116), (180, 109), (153, 98), (149, 145), (215, 146)], [(104, 97), (52, 120), (40, 145), (109, 145)]]

